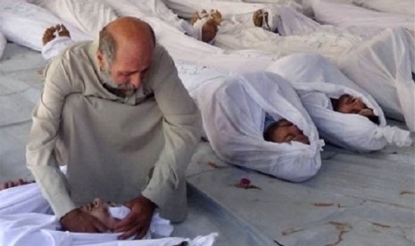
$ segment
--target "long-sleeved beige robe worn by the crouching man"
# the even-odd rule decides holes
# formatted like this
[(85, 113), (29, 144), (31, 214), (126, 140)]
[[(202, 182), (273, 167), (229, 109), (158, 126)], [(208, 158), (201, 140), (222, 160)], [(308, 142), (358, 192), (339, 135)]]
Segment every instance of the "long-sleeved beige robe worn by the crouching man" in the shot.
[[(161, 45), (142, 86), (128, 98), (104, 88), (96, 49), (96, 41), (72, 46), (46, 68), (28, 168), (57, 217), (95, 197), (124, 202), (142, 193), (162, 216), (184, 219), (185, 169), (199, 141), (195, 103)], [(68, 166), (66, 178), (58, 165)]]

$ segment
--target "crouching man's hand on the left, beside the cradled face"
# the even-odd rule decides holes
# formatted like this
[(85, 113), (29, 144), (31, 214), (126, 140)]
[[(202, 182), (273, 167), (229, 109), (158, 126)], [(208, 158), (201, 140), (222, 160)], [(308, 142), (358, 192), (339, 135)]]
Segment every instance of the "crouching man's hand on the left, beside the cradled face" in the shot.
[(63, 229), (78, 233), (105, 233), (109, 228), (100, 220), (81, 209), (73, 209), (61, 217)]

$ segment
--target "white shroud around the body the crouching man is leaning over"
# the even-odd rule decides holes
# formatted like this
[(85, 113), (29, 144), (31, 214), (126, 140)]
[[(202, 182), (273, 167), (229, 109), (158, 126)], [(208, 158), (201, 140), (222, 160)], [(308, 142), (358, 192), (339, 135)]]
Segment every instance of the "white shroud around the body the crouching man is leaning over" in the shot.
[(0, 191), (0, 245), (8, 246), (211, 246), (217, 234), (198, 236), (194, 240), (169, 237), (170, 221), (155, 214), (150, 225), (151, 236), (159, 239), (118, 241), (119, 234), (87, 234), (63, 232), (59, 220), (40, 193), (37, 184), (24, 184)]

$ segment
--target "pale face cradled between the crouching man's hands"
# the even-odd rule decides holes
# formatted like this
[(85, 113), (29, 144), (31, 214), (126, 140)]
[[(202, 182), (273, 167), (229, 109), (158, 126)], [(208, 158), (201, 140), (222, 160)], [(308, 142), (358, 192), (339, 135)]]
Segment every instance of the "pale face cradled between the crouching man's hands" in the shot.
[(117, 207), (116, 204), (112, 204), (110, 202), (102, 201), (99, 198), (96, 198), (93, 202), (87, 203), (86, 205), (82, 206), (80, 209), (88, 214), (96, 217), (99, 219), (104, 225), (107, 225), (110, 230), (114, 228), (116, 222), (120, 221), (120, 219), (112, 217), (110, 214), (110, 207)]

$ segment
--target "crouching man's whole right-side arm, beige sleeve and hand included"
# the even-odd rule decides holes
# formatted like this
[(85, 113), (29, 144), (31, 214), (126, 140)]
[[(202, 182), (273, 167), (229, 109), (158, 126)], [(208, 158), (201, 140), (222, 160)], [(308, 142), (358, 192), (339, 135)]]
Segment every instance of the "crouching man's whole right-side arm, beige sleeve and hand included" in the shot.
[[(173, 201), (186, 201), (185, 170), (200, 140), (199, 111), (178, 78), (170, 55), (163, 50), (156, 59), (160, 64), (156, 65), (154, 72), (159, 74), (155, 76), (157, 81), (152, 89), (163, 115), (165, 143), (150, 182), (140, 196), (128, 202), (131, 213), (115, 228), (115, 232), (123, 232), (120, 239), (134, 234), (142, 237), (148, 229), (155, 206), (172, 211), (175, 210), (170, 209)], [(185, 198), (178, 196), (178, 190), (183, 192), (180, 194)], [(181, 202), (181, 206), (186, 206), (186, 203)], [(184, 217), (184, 213), (172, 215), (170, 212), (167, 218), (179, 221)]]

